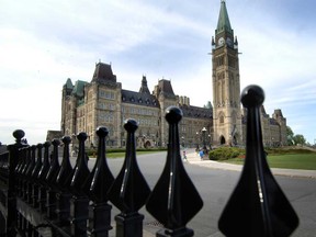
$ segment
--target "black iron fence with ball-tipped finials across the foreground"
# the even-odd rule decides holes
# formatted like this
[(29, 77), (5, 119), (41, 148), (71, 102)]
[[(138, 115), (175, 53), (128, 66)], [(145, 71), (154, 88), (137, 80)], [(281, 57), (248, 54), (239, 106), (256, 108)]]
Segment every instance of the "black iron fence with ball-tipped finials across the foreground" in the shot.
[[(264, 100), (261, 88), (247, 87), (241, 102), (248, 109), (246, 160), (240, 180), (224, 208), (218, 228), (226, 236), (290, 236), (298, 218), (275, 182), (262, 146), (259, 108)], [(135, 131), (137, 123), (127, 120), (126, 156), (114, 179), (106, 163), (108, 129), (99, 127), (98, 157), (88, 168), (86, 133), (79, 133), (76, 165), (69, 159), (70, 137), (63, 137), (63, 160), (58, 159), (58, 139), (29, 146), (23, 131), (15, 131), (16, 143), (0, 156), (0, 222), (2, 236), (109, 236), (111, 208), (116, 236), (143, 236), (146, 205), (163, 227), (159, 237), (193, 236), (187, 228), (202, 208), (203, 201), (187, 174), (180, 155), (178, 124), (182, 112), (176, 106), (166, 111), (169, 143), (165, 168), (153, 190), (137, 166)], [(53, 147), (50, 155), (49, 147)]]

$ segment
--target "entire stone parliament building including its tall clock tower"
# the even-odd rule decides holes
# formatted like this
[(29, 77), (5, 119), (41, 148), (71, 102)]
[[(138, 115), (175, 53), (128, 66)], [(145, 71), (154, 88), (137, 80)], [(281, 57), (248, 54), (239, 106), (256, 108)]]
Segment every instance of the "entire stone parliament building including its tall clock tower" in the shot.
[[(136, 131), (139, 147), (166, 146), (168, 124), (166, 109), (179, 106), (183, 112), (180, 123), (181, 145), (195, 147), (244, 145), (246, 110), (240, 106), (240, 75), (238, 42), (230, 26), (226, 3), (221, 2), (215, 36), (212, 38), (213, 106), (193, 106), (188, 97), (173, 92), (171, 81), (160, 79), (150, 93), (147, 79), (139, 80), (139, 91), (122, 88), (111, 65), (98, 63), (90, 82), (67, 79), (63, 87), (61, 132), (74, 135), (84, 131), (88, 144), (97, 145), (95, 128), (106, 126), (108, 146), (125, 145), (124, 121), (138, 121)], [(281, 110), (270, 117), (261, 108), (261, 126), (266, 146), (286, 144), (286, 120)]]

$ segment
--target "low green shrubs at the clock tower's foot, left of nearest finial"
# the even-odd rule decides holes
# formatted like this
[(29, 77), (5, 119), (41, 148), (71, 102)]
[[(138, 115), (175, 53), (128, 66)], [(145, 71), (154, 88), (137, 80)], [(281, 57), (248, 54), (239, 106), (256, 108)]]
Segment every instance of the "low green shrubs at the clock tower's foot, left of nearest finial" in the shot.
[(208, 158), (211, 160), (227, 160), (238, 156), (245, 156), (245, 149), (237, 147), (219, 147), (210, 150), (208, 153)]

